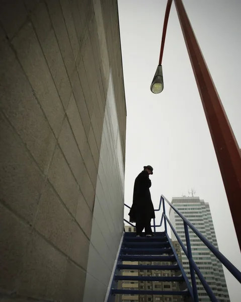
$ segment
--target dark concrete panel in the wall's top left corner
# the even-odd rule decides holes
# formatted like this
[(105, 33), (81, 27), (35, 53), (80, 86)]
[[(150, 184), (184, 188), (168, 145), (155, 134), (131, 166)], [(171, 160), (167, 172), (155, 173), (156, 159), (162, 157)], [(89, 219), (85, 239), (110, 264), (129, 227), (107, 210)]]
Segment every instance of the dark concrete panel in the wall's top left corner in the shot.
[(27, 10), (22, 1), (1, 1), (0, 20), (10, 40), (19, 31), (26, 19)]

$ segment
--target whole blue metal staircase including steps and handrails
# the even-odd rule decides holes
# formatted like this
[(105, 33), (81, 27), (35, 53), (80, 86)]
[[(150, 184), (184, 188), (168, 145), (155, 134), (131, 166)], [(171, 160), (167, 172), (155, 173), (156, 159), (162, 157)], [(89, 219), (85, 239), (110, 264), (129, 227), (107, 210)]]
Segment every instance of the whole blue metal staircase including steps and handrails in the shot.
[[(180, 239), (177, 231), (173, 227), (171, 221), (166, 215), (165, 202), (168, 203), (174, 211), (183, 219), (186, 246)], [(165, 196), (160, 197), (159, 211), (163, 205), (162, 219), (159, 225), (155, 225), (155, 219), (153, 221), (153, 229), (156, 237), (136, 237), (136, 233), (126, 232), (123, 234), (121, 240), (121, 246), (118, 251), (115, 267), (113, 270), (113, 278), (111, 279), (110, 286), (107, 291), (105, 302), (121, 302), (122, 299), (116, 299), (117, 295), (127, 294), (134, 295), (175, 295), (182, 296), (185, 302), (199, 302), (195, 273), (201, 281), (204, 289), (206, 290), (210, 300), (212, 302), (219, 302), (218, 298), (214, 295), (209, 284), (203, 277), (201, 271), (192, 258), (192, 249), (189, 238), (189, 228), (199, 237), (199, 239), (206, 245), (206, 247), (216, 256), (217, 259), (229, 270), (229, 272), (241, 283), (241, 272), (225, 257), (218, 249), (216, 249), (196, 228), (195, 226), (178, 210), (171, 202), (167, 200)], [(128, 205), (125, 204), (128, 208)], [(134, 226), (131, 222), (124, 219), (128, 224)], [(162, 226), (164, 221), (165, 232), (155, 232), (157, 226)], [(191, 283), (189, 282), (187, 275), (183, 269), (183, 266), (178, 258), (176, 250), (169, 238), (167, 232), (167, 222), (170, 225), (175, 237), (177, 238), (181, 248), (186, 254), (189, 260)], [(124, 264), (128, 262), (138, 262), (138, 264)], [(141, 262), (169, 262), (169, 265), (155, 265), (155, 264), (142, 264)], [(138, 271), (138, 275), (130, 276), (123, 275), (123, 271)], [(143, 270), (158, 270), (158, 271), (175, 271), (172, 276), (143, 276), (140, 271)], [(178, 282), (179, 290), (146, 290), (140, 289), (124, 289), (122, 286), (118, 286), (118, 282), (122, 281), (150, 281), (150, 282)], [(133, 301), (136, 301), (133, 298)]]

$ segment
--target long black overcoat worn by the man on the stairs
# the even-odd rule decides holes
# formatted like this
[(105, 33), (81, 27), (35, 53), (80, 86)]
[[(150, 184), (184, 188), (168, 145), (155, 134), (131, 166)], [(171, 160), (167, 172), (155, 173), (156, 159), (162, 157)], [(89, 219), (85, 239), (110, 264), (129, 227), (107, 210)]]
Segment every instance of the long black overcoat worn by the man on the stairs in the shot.
[(142, 171), (135, 179), (133, 203), (129, 212), (131, 221), (135, 221), (136, 214), (150, 215), (155, 218), (154, 207), (150, 197), (151, 181), (147, 171)]

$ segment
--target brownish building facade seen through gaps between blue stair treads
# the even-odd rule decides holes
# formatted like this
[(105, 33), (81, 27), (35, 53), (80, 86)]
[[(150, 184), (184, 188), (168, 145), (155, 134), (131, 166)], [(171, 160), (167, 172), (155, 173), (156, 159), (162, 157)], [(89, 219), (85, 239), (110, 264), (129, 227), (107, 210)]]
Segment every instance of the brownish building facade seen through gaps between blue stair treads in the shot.
[[(125, 225), (126, 232), (135, 232), (133, 226)], [(181, 258), (181, 248), (177, 241), (172, 242), (178, 256)], [(169, 265), (170, 262), (128, 262), (123, 261), (123, 264), (139, 264), (139, 265)], [(176, 271), (160, 271), (160, 270), (123, 270), (125, 276), (176, 276)], [(118, 281), (120, 289), (142, 289), (142, 290), (179, 290), (179, 282), (158, 282), (158, 281)], [(182, 302), (182, 296), (175, 295), (126, 295), (116, 297), (116, 302)]]

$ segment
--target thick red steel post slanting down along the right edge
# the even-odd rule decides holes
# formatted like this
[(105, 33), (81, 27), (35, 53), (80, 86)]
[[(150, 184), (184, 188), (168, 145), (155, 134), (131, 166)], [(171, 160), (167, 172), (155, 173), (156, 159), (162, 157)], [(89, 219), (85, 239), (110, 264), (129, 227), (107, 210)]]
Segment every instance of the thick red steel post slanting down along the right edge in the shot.
[[(241, 250), (241, 153), (182, 0), (174, 0)], [(218, 208), (218, 201), (217, 201)], [(225, 217), (223, 219), (225, 229)]]

